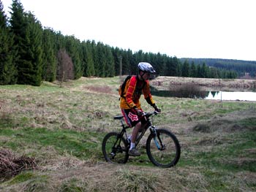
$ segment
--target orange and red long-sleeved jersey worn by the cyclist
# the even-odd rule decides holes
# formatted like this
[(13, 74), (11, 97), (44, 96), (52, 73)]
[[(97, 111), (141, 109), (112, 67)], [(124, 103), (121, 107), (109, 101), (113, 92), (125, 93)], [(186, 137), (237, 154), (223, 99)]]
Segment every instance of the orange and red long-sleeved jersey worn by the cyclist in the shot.
[(135, 107), (141, 109), (140, 96), (142, 93), (148, 104), (153, 105), (154, 100), (150, 93), (149, 81), (139, 80), (138, 76), (132, 76), (127, 81), (127, 85), (124, 88), (124, 96), (120, 99), (121, 109), (131, 109)]

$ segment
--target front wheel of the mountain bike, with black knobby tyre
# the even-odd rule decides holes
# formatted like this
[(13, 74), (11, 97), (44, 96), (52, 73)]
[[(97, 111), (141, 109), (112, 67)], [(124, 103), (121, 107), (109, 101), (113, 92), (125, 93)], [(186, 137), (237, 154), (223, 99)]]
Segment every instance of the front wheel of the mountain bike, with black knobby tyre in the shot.
[(164, 168), (175, 166), (181, 155), (181, 146), (176, 136), (166, 129), (157, 129), (146, 142), (146, 152), (150, 161)]

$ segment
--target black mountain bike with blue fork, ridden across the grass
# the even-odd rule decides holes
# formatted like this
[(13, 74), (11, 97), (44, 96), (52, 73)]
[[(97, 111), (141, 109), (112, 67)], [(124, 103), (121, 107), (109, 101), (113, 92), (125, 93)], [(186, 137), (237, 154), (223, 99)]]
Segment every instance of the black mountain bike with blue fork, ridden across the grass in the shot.
[[(178, 139), (169, 130), (165, 128), (157, 128), (153, 125), (154, 116), (159, 112), (143, 112), (146, 118), (144, 128), (138, 134), (135, 145), (137, 146), (140, 139), (143, 138), (147, 130), (150, 131), (146, 139), (146, 153), (149, 160), (155, 165), (163, 168), (175, 166), (181, 155), (181, 146)], [(106, 161), (117, 164), (126, 164), (129, 158), (130, 139), (127, 134), (127, 128), (124, 124), (124, 116), (118, 115), (115, 120), (120, 120), (121, 131), (110, 132), (106, 134), (102, 141), (102, 153)]]

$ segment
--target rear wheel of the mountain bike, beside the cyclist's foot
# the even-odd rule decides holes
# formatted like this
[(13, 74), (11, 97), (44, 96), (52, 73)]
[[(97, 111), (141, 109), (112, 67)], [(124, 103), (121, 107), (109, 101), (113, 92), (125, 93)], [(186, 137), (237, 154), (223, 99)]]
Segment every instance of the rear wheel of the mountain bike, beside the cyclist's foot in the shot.
[(106, 161), (116, 164), (125, 164), (129, 158), (127, 142), (116, 132), (110, 132), (104, 137), (102, 153)]

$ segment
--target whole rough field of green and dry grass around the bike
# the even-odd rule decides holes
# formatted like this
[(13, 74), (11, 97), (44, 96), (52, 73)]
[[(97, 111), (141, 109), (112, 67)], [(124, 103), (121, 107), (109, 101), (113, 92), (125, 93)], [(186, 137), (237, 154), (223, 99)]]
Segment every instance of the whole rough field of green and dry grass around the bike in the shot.
[[(159, 80), (152, 85), (170, 84)], [(120, 129), (118, 85), (118, 77), (83, 77), (61, 88), (0, 86), (1, 170), (7, 155), (34, 160), (1, 172), (0, 191), (256, 191), (256, 102), (154, 96), (162, 108), (154, 124), (176, 134), (180, 161), (160, 169), (141, 147), (140, 157), (116, 165), (105, 162), (101, 144)]]

